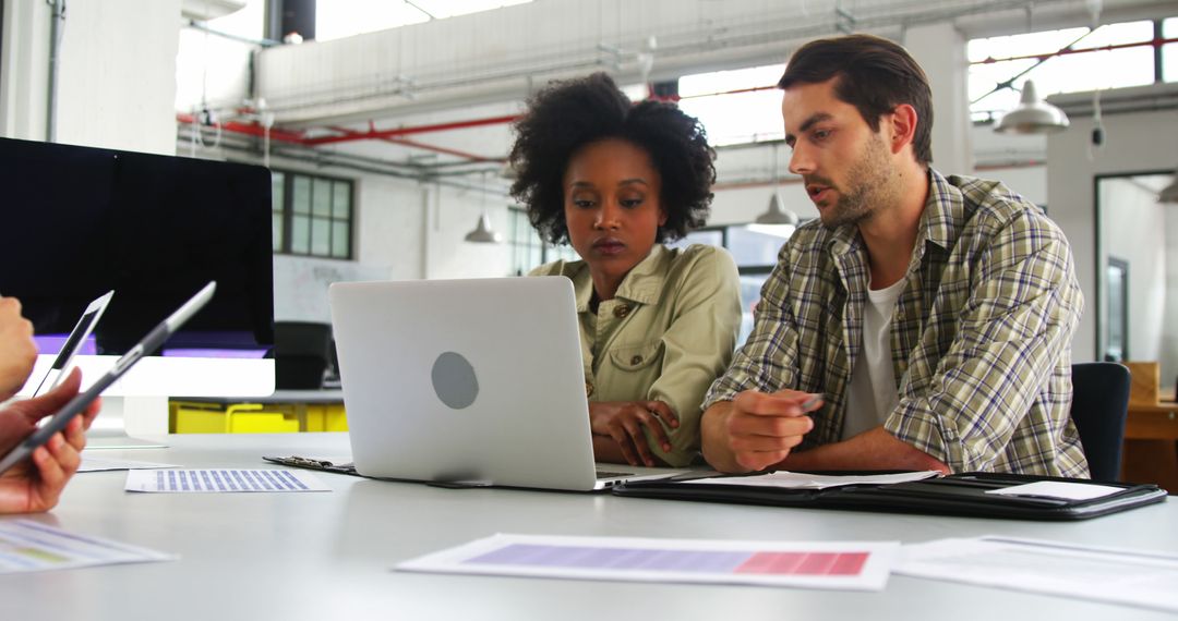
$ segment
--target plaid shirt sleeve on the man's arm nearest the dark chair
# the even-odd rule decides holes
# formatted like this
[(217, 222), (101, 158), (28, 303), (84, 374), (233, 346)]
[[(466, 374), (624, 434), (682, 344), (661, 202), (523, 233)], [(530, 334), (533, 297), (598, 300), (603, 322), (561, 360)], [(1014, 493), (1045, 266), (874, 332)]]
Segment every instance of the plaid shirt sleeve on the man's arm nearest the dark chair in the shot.
[[(884, 423), (953, 472), (988, 469), (1007, 447), (1066, 355), (1084, 306), (1067, 240), (1046, 219), (1014, 218), (981, 251), (975, 273), (927, 390), (901, 394)], [(1033, 433), (1058, 432), (1051, 425), (1034, 421), (1043, 428)], [(1033, 438), (1024, 441), (1023, 453), (1033, 452)]]

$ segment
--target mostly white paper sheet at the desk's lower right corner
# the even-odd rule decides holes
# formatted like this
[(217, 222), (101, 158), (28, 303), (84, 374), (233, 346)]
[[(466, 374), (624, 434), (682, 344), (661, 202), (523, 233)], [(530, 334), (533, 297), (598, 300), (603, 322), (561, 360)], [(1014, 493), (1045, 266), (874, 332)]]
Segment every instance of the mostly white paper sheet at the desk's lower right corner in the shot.
[(904, 546), (895, 573), (1178, 612), (1178, 556), (982, 536)]

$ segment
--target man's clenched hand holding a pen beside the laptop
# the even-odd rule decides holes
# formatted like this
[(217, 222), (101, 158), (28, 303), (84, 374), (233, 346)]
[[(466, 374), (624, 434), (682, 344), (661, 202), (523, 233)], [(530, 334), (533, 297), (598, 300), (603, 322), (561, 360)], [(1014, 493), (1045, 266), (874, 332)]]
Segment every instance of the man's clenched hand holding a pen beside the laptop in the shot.
[(814, 428), (806, 414), (821, 399), (798, 390), (744, 390), (703, 413), (703, 456), (720, 472), (763, 470), (789, 455)]

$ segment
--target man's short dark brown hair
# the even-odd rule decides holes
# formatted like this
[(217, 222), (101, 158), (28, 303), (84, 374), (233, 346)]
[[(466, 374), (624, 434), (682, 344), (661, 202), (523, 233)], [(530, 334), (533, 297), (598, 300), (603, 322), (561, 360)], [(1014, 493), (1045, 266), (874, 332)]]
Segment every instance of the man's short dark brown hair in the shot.
[(852, 34), (819, 39), (803, 45), (786, 65), (777, 87), (820, 84), (838, 78), (834, 94), (859, 109), (873, 132), (880, 116), (908, 103), (916, 111), (916, 133), (912, 140), (916, 161), (933, 161), (933, 94), (928, 76), (908, 52), (887, 39)]

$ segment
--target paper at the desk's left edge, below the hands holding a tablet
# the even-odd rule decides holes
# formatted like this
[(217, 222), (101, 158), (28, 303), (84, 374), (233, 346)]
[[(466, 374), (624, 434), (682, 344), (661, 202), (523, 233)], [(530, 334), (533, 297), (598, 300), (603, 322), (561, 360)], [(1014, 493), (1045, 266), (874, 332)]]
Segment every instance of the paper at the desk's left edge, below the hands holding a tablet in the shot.
[(33, 520), (0, 521), (0, 574), (174, 559), (173, 554), (71, 533)]

